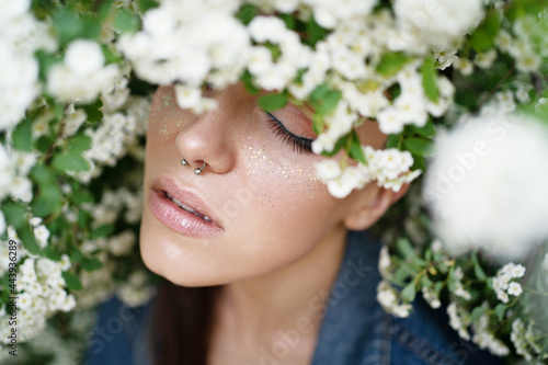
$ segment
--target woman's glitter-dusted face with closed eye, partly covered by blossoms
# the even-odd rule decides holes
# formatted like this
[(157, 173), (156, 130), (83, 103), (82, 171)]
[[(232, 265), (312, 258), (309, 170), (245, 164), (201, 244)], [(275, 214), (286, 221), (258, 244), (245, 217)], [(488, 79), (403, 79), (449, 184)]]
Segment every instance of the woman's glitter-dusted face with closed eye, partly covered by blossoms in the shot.
[[(209, 93), (217, 109), (195, 115), (178, 106), (173, 88), (159, 88), (147, 133), (141, 255), (184, 286), (250, 278), (306, 258), (342, 228), (356, 194), (332, 197), (313, 175), (324, 158), (295, 147), (306, 141), (288, 133), (316, 137), (305, 109), (274, 112), (278, 123), (241, 84)], [(362, 141), (381, 147), (376, 123), (367, 125)]]

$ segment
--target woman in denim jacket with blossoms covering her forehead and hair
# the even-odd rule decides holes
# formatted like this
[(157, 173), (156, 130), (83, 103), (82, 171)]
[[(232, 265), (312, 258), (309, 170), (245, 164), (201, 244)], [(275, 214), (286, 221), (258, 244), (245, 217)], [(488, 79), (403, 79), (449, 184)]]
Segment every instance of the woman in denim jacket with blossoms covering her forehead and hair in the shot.
[[(313, 175), (310, 110), (266, 113), (241, 84), (206, 92), (218, 107), (202, 115), (171, 87), (155, 95), (140, 251), (168, 282), (150, 306), (100, 309), (91, 364), (499, 363), (421, 300), (407, 319), (377, 304), (379, 243), (364, 230), (407, 186), (334, 198)], [(358, 134), (386, 141), (376, 123)]]

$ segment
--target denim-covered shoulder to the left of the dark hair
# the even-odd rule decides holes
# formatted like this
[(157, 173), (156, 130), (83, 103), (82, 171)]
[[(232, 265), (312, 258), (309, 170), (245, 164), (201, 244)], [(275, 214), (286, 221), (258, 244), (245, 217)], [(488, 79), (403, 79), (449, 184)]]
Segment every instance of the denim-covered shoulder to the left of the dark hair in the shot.
[(88, 340), (87, 365), (146, 365), (150, 304), (128, 307), (116, 296), (98, 306)]

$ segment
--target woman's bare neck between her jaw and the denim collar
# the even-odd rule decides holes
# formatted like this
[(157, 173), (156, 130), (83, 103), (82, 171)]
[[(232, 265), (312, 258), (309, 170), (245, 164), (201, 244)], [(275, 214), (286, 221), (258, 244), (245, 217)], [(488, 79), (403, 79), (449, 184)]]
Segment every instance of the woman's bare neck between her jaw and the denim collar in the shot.
[(288, 266), (226, 285), (218, 304), (220, 322), (250, 341), (299, 327), (317, 333), (345, 241), (346, 229), (338, 227)]

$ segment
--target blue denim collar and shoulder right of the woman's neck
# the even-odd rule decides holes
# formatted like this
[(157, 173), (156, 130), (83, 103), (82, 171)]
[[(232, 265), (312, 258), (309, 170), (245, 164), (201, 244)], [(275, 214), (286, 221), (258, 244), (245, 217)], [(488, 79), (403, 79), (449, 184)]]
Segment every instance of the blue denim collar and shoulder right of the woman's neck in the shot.
[[(329, 349), (329, 354), (319, 351), (322, 357), (332, 355), (361, 365), (502, 364), (499, 357), (460, 339), (446, 311), (433, 309), (420, 293), (408, 318), (385, 312), (376, 299), (381, 243), (367, 231), (350, 231), (347, 244), (320, 333), (320, 344)], [(333, 349), (342, 350), (335, 356)]]

